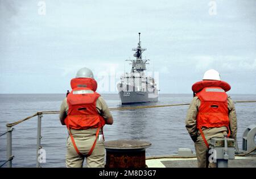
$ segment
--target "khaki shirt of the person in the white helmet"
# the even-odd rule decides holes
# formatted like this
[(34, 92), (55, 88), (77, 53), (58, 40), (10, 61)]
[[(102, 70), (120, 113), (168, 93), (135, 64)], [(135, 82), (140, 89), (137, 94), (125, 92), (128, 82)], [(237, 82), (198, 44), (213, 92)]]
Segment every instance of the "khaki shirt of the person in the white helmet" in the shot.
[[(194, 97), (187, 113), (187, 118), (185, 120), (185, 127), (188, 130), (189, 135), (192, 140), (195, 142), (202, 142), (203, 138), (200, 135), (200, 131), (197, 130), (196, 127), (196, 116), (200, 107), (200, 99), (198, 97)], [(230, 97), (228, 97), (228, 109), (229, 109), (229, 129), (230, 136), (229, 138), (233, 138), (236, 140), (237, 136), (237, 115), (234, 107), (234, 102)], [(228, 131), (226, 127), (214, 127), (214, 128), (202, 128), (204, 136), (207, 140), (211, 138), (221, 138), (223, 137), (223, 132)]]

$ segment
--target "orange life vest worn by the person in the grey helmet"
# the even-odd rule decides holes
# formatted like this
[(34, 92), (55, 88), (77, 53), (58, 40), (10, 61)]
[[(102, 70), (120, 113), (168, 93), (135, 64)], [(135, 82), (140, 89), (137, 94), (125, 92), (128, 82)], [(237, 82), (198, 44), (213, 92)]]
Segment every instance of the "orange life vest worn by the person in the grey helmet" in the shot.
[(97, 82), (92, 78), (73, 78), (71, 80), (72, 91), (67, 96), (68, 115), (64, 122), (68, 128), (72, 143), (76, 152), (81, 155), (76, 147), (75, 140), (70, 129), (86, 130), (89, 128), (98, 128), (96, 139), (90, 149), (89, 156), (97, 142), (101, 128), (105, 125), (104, 118), (98, 114), (96, 102), (100, 94), (96, 93)]

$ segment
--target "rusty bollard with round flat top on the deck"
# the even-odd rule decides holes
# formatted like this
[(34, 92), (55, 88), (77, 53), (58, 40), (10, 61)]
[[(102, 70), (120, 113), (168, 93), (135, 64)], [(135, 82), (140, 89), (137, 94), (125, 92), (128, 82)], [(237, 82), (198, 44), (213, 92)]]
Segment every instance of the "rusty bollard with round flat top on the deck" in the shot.
[(145, 151), (151, 143), (141, 140), (112, 140), (104, 143), (106, 168), (145, 168)]

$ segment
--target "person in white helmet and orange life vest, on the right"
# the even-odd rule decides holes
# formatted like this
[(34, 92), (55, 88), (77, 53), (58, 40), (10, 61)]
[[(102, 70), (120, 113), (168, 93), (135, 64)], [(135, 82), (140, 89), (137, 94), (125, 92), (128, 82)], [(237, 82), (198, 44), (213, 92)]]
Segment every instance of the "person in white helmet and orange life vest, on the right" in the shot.
[(234, 103), (226, 94), (230, 85), (221, 81), (220, 74), (210, 69), (204, 73), (203, 81), (192, 86), (195, 94), (189, 106), (185, 127), (195, 142), (197, 164), (200, 168), (216, 167), (209, 163), (209, 143), (212, 138), (236, 140), (237, 116)]

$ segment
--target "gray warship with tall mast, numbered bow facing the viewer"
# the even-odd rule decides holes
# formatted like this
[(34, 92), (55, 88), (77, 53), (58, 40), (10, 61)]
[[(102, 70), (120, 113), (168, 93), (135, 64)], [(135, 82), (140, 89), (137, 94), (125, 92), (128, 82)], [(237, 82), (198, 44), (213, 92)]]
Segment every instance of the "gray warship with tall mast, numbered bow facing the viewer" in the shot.
[[(158, 89), (154, 77), (145, 73), (146, 65), (150, 60), (143, 60), (142, 53), (146, 48), (141, 47), (141, 33), (139, 32), (139, 43), (137, 48), (133, 48), (136, 60), (126, 60), (131, 63), (130, 73), (121, 76), (121, 82), (117, 84), (119, 97), (122, 105), (131, 103), (157, 102)], [(153, 72), (154, 73), (154, 72)]]

